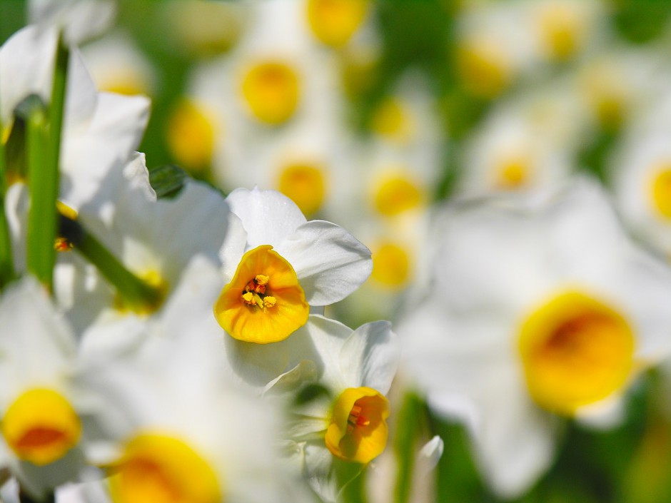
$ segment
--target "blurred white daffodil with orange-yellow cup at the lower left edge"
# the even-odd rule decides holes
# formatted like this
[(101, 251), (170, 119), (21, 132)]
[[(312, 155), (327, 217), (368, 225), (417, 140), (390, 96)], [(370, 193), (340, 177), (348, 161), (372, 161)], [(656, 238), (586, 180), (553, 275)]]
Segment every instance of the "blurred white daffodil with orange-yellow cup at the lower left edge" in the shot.
[(84, 470), (71, 328), (31, 277), (0, 298), (0, 465), (41, 499)]

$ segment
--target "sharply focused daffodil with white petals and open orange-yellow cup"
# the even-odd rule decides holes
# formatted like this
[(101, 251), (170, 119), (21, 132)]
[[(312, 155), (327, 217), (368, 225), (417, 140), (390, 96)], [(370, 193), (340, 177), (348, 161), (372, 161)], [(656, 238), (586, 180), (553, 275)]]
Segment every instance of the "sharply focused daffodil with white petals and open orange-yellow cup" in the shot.
[(305, 324), (311, 306), (345, 298), (370, 274), (370, 250), (347, 230), (306, 218), (274, 190), (233, 190), (214, 305), (231, 337), (265, 344)]

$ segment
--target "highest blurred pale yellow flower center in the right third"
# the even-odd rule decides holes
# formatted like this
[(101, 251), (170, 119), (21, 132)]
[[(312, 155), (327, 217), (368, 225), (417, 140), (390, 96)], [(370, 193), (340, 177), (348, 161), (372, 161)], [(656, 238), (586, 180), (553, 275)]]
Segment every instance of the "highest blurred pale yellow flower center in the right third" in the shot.
[(574, 56), (585, 37), (585, 19), (577, 6), (555, 2), (540, 11), (540, 35), (553, 59), (565, 61)]

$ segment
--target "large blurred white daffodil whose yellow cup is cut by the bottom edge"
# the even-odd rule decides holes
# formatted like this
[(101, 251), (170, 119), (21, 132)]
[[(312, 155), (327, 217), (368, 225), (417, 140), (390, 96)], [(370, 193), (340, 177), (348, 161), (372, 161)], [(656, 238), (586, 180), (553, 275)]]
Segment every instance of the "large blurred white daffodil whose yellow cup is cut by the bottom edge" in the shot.
[(153, 325), (141, 350), (84, 372), (87, 452), (111, 467), (113, 501), (302, 501), (278, 464), (278, 411), (231, 387), (221, 340), (182, 329)]

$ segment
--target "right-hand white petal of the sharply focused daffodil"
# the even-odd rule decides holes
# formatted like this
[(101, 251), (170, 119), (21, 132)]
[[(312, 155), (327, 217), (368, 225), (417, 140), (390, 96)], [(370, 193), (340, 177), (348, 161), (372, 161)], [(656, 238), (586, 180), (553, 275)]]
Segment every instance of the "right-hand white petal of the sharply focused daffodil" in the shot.
[(293, 265), (311, 305), (338, 302), (360, 287), (373, 269), (370, 250), (339, 225), (304, 223), (277, 251)]

